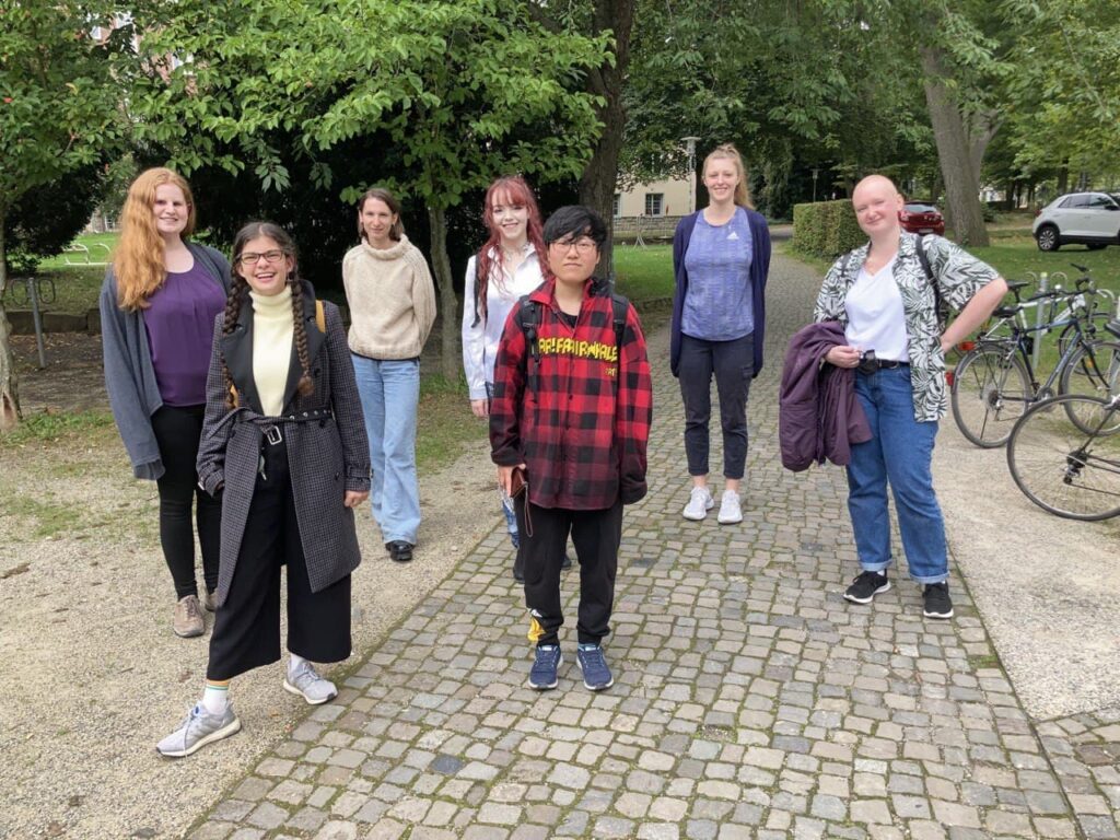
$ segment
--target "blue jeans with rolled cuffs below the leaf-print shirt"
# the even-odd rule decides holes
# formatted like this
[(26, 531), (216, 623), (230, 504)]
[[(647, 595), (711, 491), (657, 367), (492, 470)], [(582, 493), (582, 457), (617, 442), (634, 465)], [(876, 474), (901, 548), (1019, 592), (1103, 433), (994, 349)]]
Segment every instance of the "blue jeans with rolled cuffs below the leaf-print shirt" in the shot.
[(937, 423), (914, 419), (906, 365), (857, 373), (856, 395), (872, 435), (866, 444), (851, 448), (848, 465), (848, 512), (859, 564), (865, 571), (890, 566), (889, 482), (911, 577), (918, 584), (939, 584), (949, 577), (949, 560), (945, 523), (931, 472)]

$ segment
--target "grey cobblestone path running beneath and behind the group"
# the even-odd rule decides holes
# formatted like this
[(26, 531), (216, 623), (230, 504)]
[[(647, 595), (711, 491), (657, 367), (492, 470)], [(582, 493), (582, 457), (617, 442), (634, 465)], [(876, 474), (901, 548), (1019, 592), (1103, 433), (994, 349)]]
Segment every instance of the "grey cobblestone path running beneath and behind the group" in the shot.
[(666, 334), (652, 338), (650, 495), (625, 519), (613, 689), (582, 687), (572, 597), (559, 689), (525, 688), (525, 614), (495, 519), (189, 836), (1117, 837), (1120, 713), (1029, 720), (959, 582), (952, 623), (923, 619), (902, 575), (874, 607), (841, 598), (857, 570), (843, 474), (792, 475), (777, 457), (781, 354), (816, 284), (775, 259), (738, 526), (680, 516), (680, 396)]

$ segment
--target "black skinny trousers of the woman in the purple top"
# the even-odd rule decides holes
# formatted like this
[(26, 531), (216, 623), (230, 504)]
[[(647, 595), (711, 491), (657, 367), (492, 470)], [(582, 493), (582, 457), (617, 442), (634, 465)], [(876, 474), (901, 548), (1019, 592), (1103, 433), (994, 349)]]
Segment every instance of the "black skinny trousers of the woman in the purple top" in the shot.
[(203, 431), (205, 405), (164, 405), (151, 416), (151, 428), (164, 461), (159, 487), (159, 542), (171, 571), (176, 598), (198, 595), (195, 584), (195, 533), (190, 510), (198, 503), (195, 521), (203, 550), (203, 579), (208, 590), (217, 587), (218, 548), (222, 543), (222, 503), (198, 487), (195, 460)]

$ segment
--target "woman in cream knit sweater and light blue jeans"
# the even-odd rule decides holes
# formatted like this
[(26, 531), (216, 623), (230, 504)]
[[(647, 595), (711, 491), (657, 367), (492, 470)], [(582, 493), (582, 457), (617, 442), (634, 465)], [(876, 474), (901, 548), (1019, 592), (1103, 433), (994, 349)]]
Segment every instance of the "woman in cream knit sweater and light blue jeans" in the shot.
[(354, 361), (373, 468), (371, 503), (389, 556), (412, 559), (420, 528), (417, 407), (420, 352), (436, 320), (436, 289), (423, 254), (409, 242), (401, 206), (385, 189), (357, 205), (362, 242), (343, 259)]

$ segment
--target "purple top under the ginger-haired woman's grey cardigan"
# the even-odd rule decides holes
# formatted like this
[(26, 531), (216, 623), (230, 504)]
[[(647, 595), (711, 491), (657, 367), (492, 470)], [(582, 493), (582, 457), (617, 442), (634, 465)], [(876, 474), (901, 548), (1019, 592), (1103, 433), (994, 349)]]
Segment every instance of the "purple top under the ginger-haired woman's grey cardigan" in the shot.
[(143, 323), (159, 395), (167, 405), (205, 403), (214, 318), (225, 307), (222, 283), (195, 258), (189, 271), (167, 272), (148, 302)]

